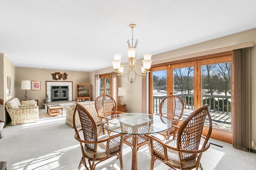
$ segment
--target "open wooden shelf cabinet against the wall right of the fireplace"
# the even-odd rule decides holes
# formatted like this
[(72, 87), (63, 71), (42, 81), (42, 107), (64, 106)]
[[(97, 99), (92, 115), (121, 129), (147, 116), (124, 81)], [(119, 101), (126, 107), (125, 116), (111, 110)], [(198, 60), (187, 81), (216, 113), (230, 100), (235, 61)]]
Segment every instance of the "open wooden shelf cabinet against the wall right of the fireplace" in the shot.
[(76, 84), (76, 102), (91, 101), (91, 84)]

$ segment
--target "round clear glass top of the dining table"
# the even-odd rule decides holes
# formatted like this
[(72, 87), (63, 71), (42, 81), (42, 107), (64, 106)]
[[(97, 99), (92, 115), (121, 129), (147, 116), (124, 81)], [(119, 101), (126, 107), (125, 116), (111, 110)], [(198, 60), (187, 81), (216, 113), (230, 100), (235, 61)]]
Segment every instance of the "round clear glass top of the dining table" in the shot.
[(143, 135), (165, 131), (172, 125), (166, 117), (146, 113), (122, 113), (103, 118), (104, 129), (117, 133)]

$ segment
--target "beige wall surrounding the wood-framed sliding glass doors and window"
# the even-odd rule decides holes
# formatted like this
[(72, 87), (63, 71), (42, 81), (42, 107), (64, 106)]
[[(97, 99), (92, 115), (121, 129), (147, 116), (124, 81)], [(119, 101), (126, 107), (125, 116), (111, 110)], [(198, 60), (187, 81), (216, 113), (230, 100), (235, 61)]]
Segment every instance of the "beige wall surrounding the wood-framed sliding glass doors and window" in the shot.
[[(192, 57), (198, 57), (200, 55), (213, 54), (217, 53), (219, 48), (228, 47), (232, 45), (238, 45), (242, 43), (247, 43), (253, 41), (256, 43), (256, 29), (252, 29), (249, 31), (244, 31), (242, 33), (237, 33), (234, 35), (214, 39), (211, 41), (206, 41), (204, 43), (199, 43), (196, 45), (191, 45), (189, 47), (184, 47), (181, 49), (176, 49), (172, 51), (168, 51), (166, 53), (153, 55), (152, 64), (160, 64), (166, 63), (170, 61), (178, 61), (181, 59), (188, 59)], [(216, 50), (217, 49), (217, 50)], [(139, 47), (138, 47), (139, 50)], [(223, 50), (223, 49), (222, 49)], [(125, 54), (124, 54), (125, 55)], [(253, 68), (252, 68), (252, 125), (250, 125), (250, 142), (254, 141), (256, 143), (256, 47), (253, 47)], [(138, 61), (138, 64), (141, 62)], [(125, 65), (127, 67), (127, 64)], [(90, 72), (90, 82), (94, 85), (94, 82), (91, 80), (94, 74), (103, 74), (107, 71), (112, 72), (113, 68), (108, 67), (101, 70), (96, 70)], [(124, 71), (125, 72), (125, 71)], [(130, 112), (132, 109), (133, 112), (141, 112), (142, 111), (142, 82), (140, 78), (136, 80), (133, 84), (130, 84), (127, 78), (122, 78), (122, 87), (128, 89), (129, 94), (124, 97), (124, 102), (127, 104), (126, 111)], [(256, 146), (251, 147), (252, 149), (256, 149)]]

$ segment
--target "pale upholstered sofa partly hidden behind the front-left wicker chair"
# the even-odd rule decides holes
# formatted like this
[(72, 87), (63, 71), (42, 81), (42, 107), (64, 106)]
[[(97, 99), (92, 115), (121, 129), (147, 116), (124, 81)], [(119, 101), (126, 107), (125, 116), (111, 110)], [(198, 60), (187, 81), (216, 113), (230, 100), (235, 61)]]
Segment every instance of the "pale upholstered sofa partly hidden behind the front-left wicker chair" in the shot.
[[(97, 111), (95, 108), (94, 101), (87, 101), (87, 102), (77, 102), (78, 104), (81, 104), (84, 106), (84, 108), (92, 115), (92, 118), (94, 119), (95, 123), (100, 122), (100, 118), (97, 116)], [(75, 104), (72, 104), (68, 107), (65, 107), (66, 110), (66, 123), (70, 125), (72, 128), (74, 128), (73, 125), (73, 115), (74, 115), (74, 109), (75, 109)], [(76, 117), (75, 117), (75, 122), (77, 127), (81, 126), (81, 122), (78, 116), (78, 112), (76, 111)]]

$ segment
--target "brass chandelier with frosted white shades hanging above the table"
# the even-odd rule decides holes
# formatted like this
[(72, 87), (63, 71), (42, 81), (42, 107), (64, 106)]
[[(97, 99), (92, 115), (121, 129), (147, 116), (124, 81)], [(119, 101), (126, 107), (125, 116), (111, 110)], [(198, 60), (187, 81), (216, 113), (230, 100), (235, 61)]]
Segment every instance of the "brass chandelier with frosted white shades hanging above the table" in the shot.
[(144, 78), (147, 75), (147, 73), (149, 72), (149, 69), (150, 69), (151, 63), (152, 63), (152, 60), (151, 60), (152, 54), (150, 54), (150, 53), (144, 54), (144, 60), (142, 60), (143, 65), (140, 66), (142, 73), (138, 74), (135, 69), (136, 68), (136, 47), (138, 44), (137, 39), (133, 45), (133, 28), (135, 28), (136, 25), (130, 24), (129, 27), (132, 28), (132, 46), (130, 45), (130, 41), (129, 40), (127, 41), (129, 70), (126, 74), (123, 74), (124, 65), (121, 65), (122, 54), (120, 54), (120, 53), (114, 54), (114, 61), (112, 61), (112, 64), (113, 64), (113, 68), (115, 69), (115, 72), (118, 76), (121, 76), (121, 77), (127, 76), (129, 82), (133, 83), (136, 80), (137, 76)]

